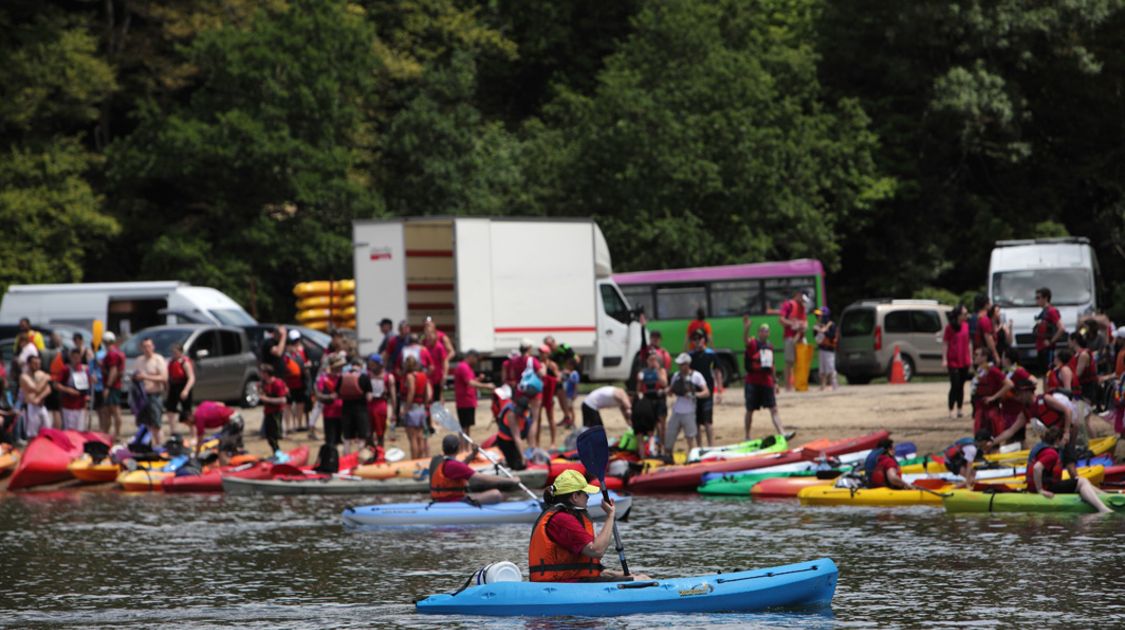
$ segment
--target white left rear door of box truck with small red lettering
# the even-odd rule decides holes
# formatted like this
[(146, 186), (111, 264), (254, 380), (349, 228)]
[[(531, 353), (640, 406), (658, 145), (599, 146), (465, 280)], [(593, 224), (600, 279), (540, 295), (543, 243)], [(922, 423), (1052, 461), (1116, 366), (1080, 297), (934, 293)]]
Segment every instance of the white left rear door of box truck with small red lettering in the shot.
[(402, 222), (352, 224), (356, 264), (356, 332), (360, 354), (382, 341), (379, 320), (397, 326), (406, 317), (406, 251)]

